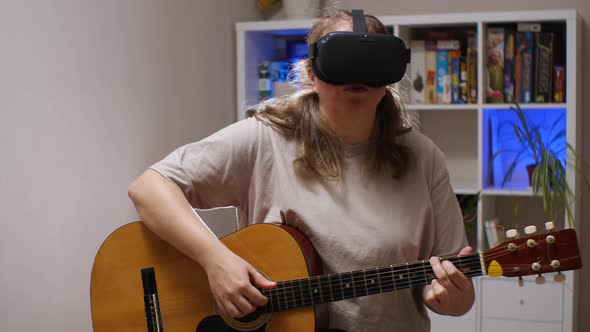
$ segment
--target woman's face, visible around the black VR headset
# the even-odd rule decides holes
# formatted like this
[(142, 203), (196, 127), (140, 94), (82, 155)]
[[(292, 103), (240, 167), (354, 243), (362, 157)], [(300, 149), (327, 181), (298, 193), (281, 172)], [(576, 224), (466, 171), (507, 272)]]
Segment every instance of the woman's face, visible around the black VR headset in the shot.
[[(352, 31), (352, 22), (338, 20), (324, 31), (324, 35), (334, 31)], [(375, 111), (385, 95), (385, 86), (375, 88), (364, 84), (330, 84), (317, 78), (311, 70), (310, 78), (314, 90), (320, 97), (320, 104), (330, 108), (353, 107), (359, 111), (363, 109)]]

